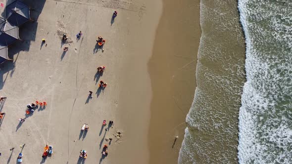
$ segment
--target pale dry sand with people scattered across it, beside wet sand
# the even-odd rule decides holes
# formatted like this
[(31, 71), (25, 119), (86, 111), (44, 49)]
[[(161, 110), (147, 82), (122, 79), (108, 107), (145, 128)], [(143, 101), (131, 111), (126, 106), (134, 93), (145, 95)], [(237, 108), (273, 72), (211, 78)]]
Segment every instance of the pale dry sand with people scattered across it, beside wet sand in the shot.
[[(150, 118), (150, 78), (147, 61), (162, 4), (156, 0), (24, 0), (34, 10), (35, 23), (20, 29), (23, 42), (9, 48), (14, 62), (0, 66), (1, 104), (6, 112), (0, 124), (0, 164), (16, 162), (22, 151), (23, 164), (76, 164), (79, 151), (88, 152), (87, 164), (147, 164)], [(114, 10), (118, 16), (111, 25)], [(72, 43), (62, 44), (64, 31)], [(79, 41), (76, 34), (82, 31)], [(106, 43), (96, 49), (97, 36)], [(46, 44), (42, 45), (42, 39)], [(69, 50), (64, 53), (63, 47)], [(101, 77), (97, 66), (106, 66)], [(107, 87), (98, 90), (98, 82)], [(94, 91), (88, 99), (88, 91)], [(28, 103), (46, 101), (26, 121)], [(106, 132), (102, 121), (114, 121)], [(80, 132), (88, 123), (87, 134)], [(106, 126), (107, 127), (107, 126)], [(121, 136), (114, 136), (121, 131)], [(111, 144), (106, 138), (113, 138)], [(20, 145), (26, 144), (20, 148)], [(42, 159), (46, 144), (53, 155)], [(108, 156), (101, 158), (103, 144)], [(13, 151), (9, 151), (15, 147)]]

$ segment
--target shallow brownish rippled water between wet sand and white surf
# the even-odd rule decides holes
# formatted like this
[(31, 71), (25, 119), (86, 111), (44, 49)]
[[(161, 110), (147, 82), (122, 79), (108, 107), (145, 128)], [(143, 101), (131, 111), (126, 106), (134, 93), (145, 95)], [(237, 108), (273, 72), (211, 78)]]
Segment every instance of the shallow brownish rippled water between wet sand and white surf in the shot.
[(201, 0), (195, 98), (179, 164), (238, 163), (245, 45), (237, 0)]

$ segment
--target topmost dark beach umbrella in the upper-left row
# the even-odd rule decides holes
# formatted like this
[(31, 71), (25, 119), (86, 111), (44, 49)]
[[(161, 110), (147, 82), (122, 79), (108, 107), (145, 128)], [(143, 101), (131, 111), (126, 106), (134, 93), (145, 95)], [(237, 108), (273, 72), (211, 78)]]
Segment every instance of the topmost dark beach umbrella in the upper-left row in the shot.
[(20, 26), (30, 20), (29, 8), (19, 0), (6, 6), (6, 16), (9, 23)]

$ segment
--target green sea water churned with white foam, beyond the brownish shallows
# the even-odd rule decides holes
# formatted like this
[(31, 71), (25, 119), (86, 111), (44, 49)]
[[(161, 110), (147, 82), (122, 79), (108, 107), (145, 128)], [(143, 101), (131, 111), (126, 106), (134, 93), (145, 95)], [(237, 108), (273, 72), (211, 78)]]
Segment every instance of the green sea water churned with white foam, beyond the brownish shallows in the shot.
[(292, 164), (292, 0), (239, 0), (246, 82), (240, 164)]

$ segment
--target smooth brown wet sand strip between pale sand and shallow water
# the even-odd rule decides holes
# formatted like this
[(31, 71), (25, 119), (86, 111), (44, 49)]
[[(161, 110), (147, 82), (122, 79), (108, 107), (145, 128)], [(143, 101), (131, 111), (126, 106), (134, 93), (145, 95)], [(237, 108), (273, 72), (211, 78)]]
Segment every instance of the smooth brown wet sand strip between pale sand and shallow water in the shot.
[[(163, 0), (148, 62), (152, 87), (150, 164), (177, 164), (195, 93), (199, 39), (199, 0)], [(179, 138), (174, 143), (175, 136)]]

